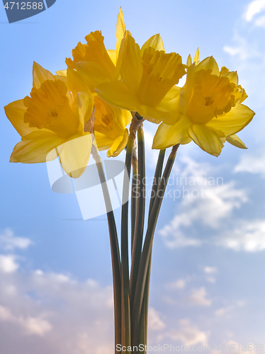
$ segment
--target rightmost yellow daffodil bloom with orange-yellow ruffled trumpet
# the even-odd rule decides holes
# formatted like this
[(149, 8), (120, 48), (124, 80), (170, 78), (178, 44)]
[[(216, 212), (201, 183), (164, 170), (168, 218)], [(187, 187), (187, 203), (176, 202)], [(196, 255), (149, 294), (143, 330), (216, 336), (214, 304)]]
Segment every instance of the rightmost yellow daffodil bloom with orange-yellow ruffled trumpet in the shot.
[(153, 149), (195, 142), (213, 156), (219, 156), (223, 143), (246, 149), (235, 135), (254, 117), (242, 102), (247, 98), (238, 84), (237, 72), (218, 68), (213, 57), (200, 62), (198, 51), (193, 63), (188, 57), (186, 84), (180, 91), (175, 121), (159, 125)]

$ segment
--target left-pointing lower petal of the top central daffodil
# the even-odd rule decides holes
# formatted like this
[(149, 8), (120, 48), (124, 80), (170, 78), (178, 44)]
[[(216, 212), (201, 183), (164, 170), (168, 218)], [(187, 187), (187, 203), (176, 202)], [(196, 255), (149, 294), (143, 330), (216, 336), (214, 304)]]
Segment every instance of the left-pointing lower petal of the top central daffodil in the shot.
[(137, 110), (140, 104), (137, 97), (131, 93), (122, 81), (111, 81), (96, 87), (98, 96), (110, 105), (125, 110)]

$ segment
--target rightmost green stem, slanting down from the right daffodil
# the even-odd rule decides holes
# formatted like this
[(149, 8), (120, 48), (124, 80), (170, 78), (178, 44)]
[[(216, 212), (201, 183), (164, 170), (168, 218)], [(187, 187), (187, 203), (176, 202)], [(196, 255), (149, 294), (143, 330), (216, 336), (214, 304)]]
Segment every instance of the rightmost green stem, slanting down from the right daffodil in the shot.
[(174, 160), (176, 157), (176, 151), (179, 148), (179, 144), (172, 147), (171, 154), (169, 155), (169, 159), (167, 160), (167, 166), (164, 169), (162, 181), (159, 183), (159, 188), (157, 191), (157, 195), (154, 199), (154, 205), (152, 207), (152, 212), (150, 213), (150, 218), (147, 227), (147, 233), (145, 236), (145, 244), (142, 249), (142, 257), (140, 261), (137, 284), (135, 290), (135, 299), (133, 302), (133, 323), (134, 331), (133, 336), (137, 336), (137, 327), (140, 325), (140, 314), (142, 309), (143, 297), (145, 292), (145, 285), (147, 280), (147, 272), (150, 265), (150, 256), (152, 251), (152, 241), (154, 238), (154, 230), (157, 225), (157, 219), (159, 215), (159, 211), (162, 205), (162, 200), (164, 197), (164, 192), (167, 187), (167, 182), (169, 180), (169, 175), (171, 173), (172, 166), (174, 164)]

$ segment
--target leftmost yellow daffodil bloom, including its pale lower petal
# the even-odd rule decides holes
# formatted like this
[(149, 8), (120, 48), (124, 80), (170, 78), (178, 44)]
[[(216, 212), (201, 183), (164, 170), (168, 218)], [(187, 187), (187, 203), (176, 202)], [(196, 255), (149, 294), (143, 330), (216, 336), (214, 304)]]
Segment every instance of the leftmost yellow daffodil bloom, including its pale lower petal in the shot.
[(21, 135), (11, 154), (11, 162), (46, 162), (60, 156), (62, 167), (77, 178), (89, 161), (92, 138), (84, 132), (91, 118), (91, 93), (77, 91), (74, 74), (54, 76), (33, 64), (30, 96), (6, 105), (6, 115)]

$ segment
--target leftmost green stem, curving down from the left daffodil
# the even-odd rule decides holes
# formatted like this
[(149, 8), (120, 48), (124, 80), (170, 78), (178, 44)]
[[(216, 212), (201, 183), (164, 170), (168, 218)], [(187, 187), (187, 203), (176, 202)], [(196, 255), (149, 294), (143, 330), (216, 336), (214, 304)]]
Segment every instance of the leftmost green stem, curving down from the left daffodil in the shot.
[(115, 353), (119, 353), (117, 344), (121, 343), (121, 275), (120, 275), (120, 250), (118, 246), (118, 235), (115, 224), (115, 218), (111, 207), (111, 198), (108, 193), (108, 185), (106, 183), (106, 176), (103, 170), (103, 164), (101, 157), (93, 151), (93, 157), (96, 161), (96, 167), (98, 169), (98, 175), (101, 181), (101, 187), (103, 190), (103, 196), (106, 204), (106, 210), (108, 218), (108, 232), (111, 242), (111, 261), (113, 270), (113, 296), (114, 296), (114, 320), (115, 320)]

